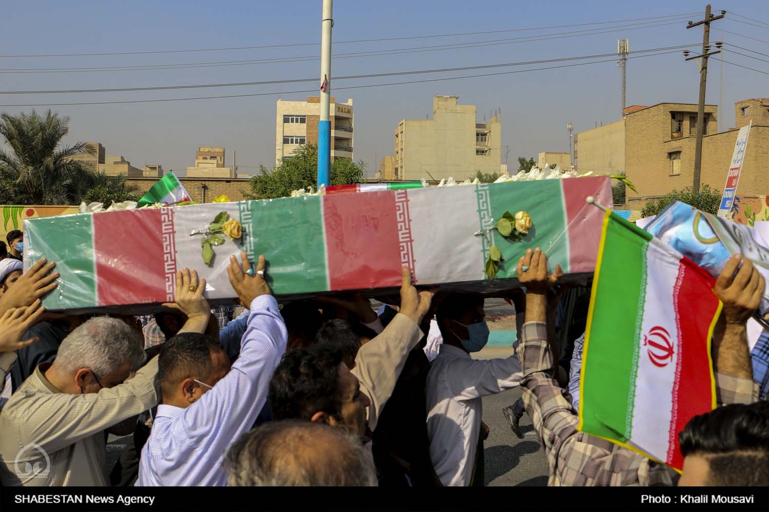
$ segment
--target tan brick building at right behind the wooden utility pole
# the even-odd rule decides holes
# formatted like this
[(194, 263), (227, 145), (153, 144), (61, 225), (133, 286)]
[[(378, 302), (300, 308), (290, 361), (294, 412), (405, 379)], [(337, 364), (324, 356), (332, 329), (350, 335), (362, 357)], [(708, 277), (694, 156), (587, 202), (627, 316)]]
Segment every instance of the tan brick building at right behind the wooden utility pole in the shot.
[[(769, 98), (737, 101), (736, 127), (717, 132), (717, 107), (705, 105), (700, 182), (723, 190), (737, 140), (737, 129), (752, 121), (737, 196), (769, 191)], [(578, 172), (614, 173), (624, 169), (638, 193), (627, 191), (628, 206), (640, 208), (647, 200), (671, 190), (691, 187), (697, 105), (661, 103), (641, 108), (618, 121), (578, 134), (574, 153)], [(621, 141), (624, 140), (624, 156)], [(624, 163), (624, 166), (621, 165)]]

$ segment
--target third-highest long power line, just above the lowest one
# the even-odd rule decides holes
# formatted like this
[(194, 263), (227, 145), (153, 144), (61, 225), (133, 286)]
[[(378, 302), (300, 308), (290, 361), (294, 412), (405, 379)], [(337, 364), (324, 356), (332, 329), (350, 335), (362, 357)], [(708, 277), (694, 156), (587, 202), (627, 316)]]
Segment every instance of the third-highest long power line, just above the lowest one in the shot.
[[(680, 48), (691, 48), (694, 45), (678, 45), (668, 46), (666, 48), (651, 48), (648, 50), (631, 51), (630, 53), (649, 53), (650, 51), (671, 50)], [(376, 74), (355, 74), (349, 76), (335, 77), (334, 80), (350, 80), (355, 78), (384, 78), (402, 76), (407, 74), (428, 74), (428, 73), (444, 73), (448, 71), (471, 71), (475, 69), (489, 69), (489, 68), (506, 68), (508, 66), (524, 66), (530, 64), (548, 64), (551, 62), (562, 61), (575, 61), (587, 58), (602, 58), (615, 55), (611, 54), (599, 54), (599, 55), (581, 55), (578, 57), (563, 57), (563, 58), (551, 58), (542, 59), (539, 61), (524, 61), (524, 62), (506, 62), (503, 64), (486, 64), (482, 66), (464, 66), (461, 68), (436, 68), (436, 69), (423, 69), (417, 71), (393, 71), (390, 73), (376, 73)], [(291, 78), (284, 80), (270, 80), (270, 81), (258, 81), (258, 82), (235, 82), (228, 84), (191, 84), (191, 85), (158, 85), (153, 87), (136, 87), (136, 88), (111, 88), (111, 89), (69, 89), (58, 91), (0, 91), (0, 94), (72, 94), (72, 93), (96, 93), (96, 92), (127, 92), (127, 91), (171, 91), (176, 89), (201, 89), (201, 88), (221, 88), (221, 87), (243, 87), (249, 85), (274, 85), (274, 84), (291, 84), (296, 82), (309, 82), (317, 81), (318, 78)]]

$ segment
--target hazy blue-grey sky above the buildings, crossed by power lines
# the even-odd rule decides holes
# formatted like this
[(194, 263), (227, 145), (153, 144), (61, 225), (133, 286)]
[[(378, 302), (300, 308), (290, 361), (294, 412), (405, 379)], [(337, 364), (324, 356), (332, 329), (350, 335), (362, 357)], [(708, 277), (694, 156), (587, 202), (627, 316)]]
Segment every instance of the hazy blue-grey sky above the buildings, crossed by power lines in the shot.
[[(292, 5), (291, 8), (286, 5)], [(714, 12), (733, 6), (736, 13), (769, 23), (769, 2), (752, 0), (713, 4)], [(687, 20), (701, 19), (705, 2), (360, 2), (337, 0), (334, 5), (334, 40), (404, 38), (415, 35), (454, 34), (476, 31), (508, 31), (551, 25), (578, 25), (684, 14), (671, 21), (648, 21), (643, 28), (615, 28), (633, 21), (603, 25), (566, 26), (532, 31), (509, 31), (446, 38), (404, 39), (342, 44), (334, 55), (380, 51), (505, 38), (564, 35), (586, 29), (594, 35), (544, 41), (514, 42), (480, 48), (455, 48), (399, 55), (335, 58), (334, 76), (413, 71), (431, 68), (536, 61), (581, 55), (610, 54), (617, 39), (630, 39), (631, 51), (673, 45), (700, 44), (699, 28), (687, 30)], [(119, 51), (182, 50), (232, 46), (284, 45), (320, 41), (321, 0), (295, 2), (15, 2), (2, 8), (0, 55), (69, 54)], [(697, 13), (686, 15), (686, 13)], [(769, 27), (747, 25), (754, 21), (727, 15), (715, 21), (711, 41), (748, 48), (769, 55)], [(635, 21), (641, 23), (642, 21)], [(731, 31), (750, 38), (722, 32)], [(762, 42), (763, 41), (763, 42)], [(498, 41), (505, 42), (505, 41)], [(735, 51), (764, 59), (758, 61), (724, 52), (728, 61), (769, 72), (769, 56)], [(320, 54), (319, 45), (291, 48), (260, 48), (203, 53), (113, 55), (55, 58), (0, 58), (0, 68), (73, 68), (135, 66), (261, 58), (291, 58)], [(611, 58), (610, 58), (611, 59)], [(541, 64), (558, 65), (568, 64)], [(769, 96), (769, 75), (712, 61), (708, 74), (707, 102), (719, 101), (719, 66), (723, 65), (722, 129), (734, 124), (734, 101)], [(155, 85), (212, 84), (271, 81), (318, 77), (320, 62), (298, 61), (141, 71), (0, 74), (0, 90), (32, 91), (80, 88), (126, 88)], [(464, 74), (509, 71), (501, 68), (465, 71)], [(412, 79), (443, 78), (454, 74), (335, 81), (334, 87), (385, 83)], [(258, 85), (237, 88), (179, 91), (131, 91), (98, 94), (0, 95), (0, 104), (68, 103), (301, 91), (317, 82)], [(696, 103), (697, 65), (684, 62), (680, 51), (628, 61), (627, 102), (651, 105), (662, 101)], [(378, 168), (378, 158), (393, 153), (393, 130), (404, 118), (424, 118), (431, 113), (434, 94), (457, 94), (460, 102), (478, 106), (478, 121), (496, 108), (502, 112), (503, 145), (509, 146), (509, 162), (518, 156), (536, 157), (539, 151), (568, 150), (566, 124), (575, 131), (596, 123), (617, 121), (620, 115), (620, 71), (610, 61), (574, 68), (502, 74), (487, 78), (393, 85), (351, 91), (332, 91), (342, 101), (351, 97), (355, 106), (355, 158)], [(282, 94), (301, 99), (308, 94)], [(199, 145), (225, 146), (238, 151), (241, 173), (255, 173), (259, 164), (275, 161), (275, 96), (179, 101), (165, 103), (108, 104), (52, 107), (71, 117), (67, 141), (97, 140), (108, 154), (120, 154), (136, 167), (161, 164), (165, 169), (192, 165)], [(17, 113), (31, 107), (0, 107)], [(45, 111), (46, 107), (35, 107)], [(377, 160), (375, 160), (375, 158)]]

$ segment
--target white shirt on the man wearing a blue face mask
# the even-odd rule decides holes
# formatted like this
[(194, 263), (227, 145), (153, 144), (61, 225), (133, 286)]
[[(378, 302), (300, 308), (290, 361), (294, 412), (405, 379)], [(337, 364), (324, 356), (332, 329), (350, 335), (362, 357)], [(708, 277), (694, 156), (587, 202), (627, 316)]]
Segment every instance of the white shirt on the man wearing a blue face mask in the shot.
[(444, 343), (427, 380), (428, 438), (435, 474), (444, 485), (470, 484), (481, 430), (481, 397), (514, 388), (521, 365), (506, 359), (475, 360)]

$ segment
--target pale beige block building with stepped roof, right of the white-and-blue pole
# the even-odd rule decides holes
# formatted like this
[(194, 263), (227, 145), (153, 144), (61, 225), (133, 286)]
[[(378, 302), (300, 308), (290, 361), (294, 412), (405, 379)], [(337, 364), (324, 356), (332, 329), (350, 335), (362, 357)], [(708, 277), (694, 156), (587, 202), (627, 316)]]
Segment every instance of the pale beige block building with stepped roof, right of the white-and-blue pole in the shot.
[(460, 105), (458, 96), (433, 98), (433, 118), (403, 120), (395, 128), (396, 180), (464, 180), (501, 172), (501, 115), (479, 124), (475, 105)]

